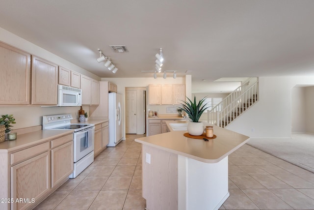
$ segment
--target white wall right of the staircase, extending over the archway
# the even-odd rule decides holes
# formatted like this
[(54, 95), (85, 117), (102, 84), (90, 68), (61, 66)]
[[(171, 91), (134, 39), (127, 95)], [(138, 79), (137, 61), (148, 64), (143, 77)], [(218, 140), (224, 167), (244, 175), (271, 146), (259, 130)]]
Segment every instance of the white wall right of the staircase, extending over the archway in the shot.
[(254, 138), (291, 137), (291, 89), (313, 84), (314, 77), (260, 77), (260, 101), (227, 128)]

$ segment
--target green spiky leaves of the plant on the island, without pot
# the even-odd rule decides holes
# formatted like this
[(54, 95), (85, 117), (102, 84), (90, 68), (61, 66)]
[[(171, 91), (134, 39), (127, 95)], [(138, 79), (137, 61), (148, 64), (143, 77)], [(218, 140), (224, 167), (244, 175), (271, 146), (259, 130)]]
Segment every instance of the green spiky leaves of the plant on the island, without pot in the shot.
[(206, 97), (202, 98), (198, 103), (196, 103), (196, 98), (194, 96), (194, 101), (192, 102), (188, 97), (186, 97), (187, 101), (183, 101), (180, 103), (183, 106), (183, 111), (186, 112), (188, 117), (191, 119), (192, 122), (198, 122), (200, 120), (201, 115), (206, 110), (206, 104), (203, 105)]

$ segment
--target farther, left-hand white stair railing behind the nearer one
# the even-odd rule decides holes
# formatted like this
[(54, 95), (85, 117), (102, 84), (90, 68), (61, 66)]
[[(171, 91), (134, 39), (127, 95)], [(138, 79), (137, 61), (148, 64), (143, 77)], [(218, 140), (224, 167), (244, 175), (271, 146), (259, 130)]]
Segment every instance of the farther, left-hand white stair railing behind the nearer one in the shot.
[(213, 117), (210, 118), (209, 115), (214, 115), (214, 113), (217, 113), (219, 109), (220, 110), (222, 109), (224, 104), (231, 103), (231, 101), (233, 101), (235, 97), (238, 97), (240, 95), (242, 87), (249, 84), (251, 79), (252, 77), (247, 79), (242, 85), (237, 87), (234, 91), (232, 91), (229, 95), (227, 95), (224, 99), (222, 99), (222, 101), (220, 101), (217, 105), (212, 107), (210, 110), (207, 110), (207, 122), (209, 122), (209, 119), (211, 119), (209, 123), (214, 124), (214, 118)]

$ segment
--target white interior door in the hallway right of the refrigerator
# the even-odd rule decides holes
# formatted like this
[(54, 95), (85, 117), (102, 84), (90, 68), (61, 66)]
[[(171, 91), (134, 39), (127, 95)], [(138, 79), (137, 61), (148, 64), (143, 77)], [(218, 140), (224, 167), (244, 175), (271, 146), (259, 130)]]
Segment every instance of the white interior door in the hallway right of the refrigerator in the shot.
[(126, 133), (136, 134), (137, 104), (136, 90), (126, 90)]

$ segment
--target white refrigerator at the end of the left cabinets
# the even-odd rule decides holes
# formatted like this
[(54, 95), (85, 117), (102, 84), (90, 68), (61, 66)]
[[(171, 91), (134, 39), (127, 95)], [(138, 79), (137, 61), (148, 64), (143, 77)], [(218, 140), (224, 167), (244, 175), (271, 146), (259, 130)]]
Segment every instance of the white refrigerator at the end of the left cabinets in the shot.
[(123, 95), (109, 92), (109, 144), (107, 147), (115, 147), (123, 138)]

